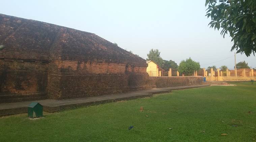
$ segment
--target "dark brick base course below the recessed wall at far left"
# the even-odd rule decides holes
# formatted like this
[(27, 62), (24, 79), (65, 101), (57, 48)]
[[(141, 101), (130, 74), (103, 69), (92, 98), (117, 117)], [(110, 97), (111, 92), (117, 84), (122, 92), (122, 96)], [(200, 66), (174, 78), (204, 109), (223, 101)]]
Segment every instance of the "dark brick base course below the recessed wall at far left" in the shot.
[(29, 94), (29, 95), (3, 95), (0, 96), (1, 103), (16, 103), (23, 101), (45, 100), (47, 96), (45, 93)]

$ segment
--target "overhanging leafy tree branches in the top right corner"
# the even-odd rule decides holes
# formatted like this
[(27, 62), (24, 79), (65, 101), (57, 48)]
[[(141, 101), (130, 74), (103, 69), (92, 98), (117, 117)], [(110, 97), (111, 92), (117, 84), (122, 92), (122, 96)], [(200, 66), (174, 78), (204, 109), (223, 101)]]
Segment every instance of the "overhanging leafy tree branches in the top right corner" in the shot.
[(232, 37), (231, 51), (245, 53), (248, 57), (256, 52), (256, 0), (206, 0), (211, 28), (222, 28), (221, 35)]

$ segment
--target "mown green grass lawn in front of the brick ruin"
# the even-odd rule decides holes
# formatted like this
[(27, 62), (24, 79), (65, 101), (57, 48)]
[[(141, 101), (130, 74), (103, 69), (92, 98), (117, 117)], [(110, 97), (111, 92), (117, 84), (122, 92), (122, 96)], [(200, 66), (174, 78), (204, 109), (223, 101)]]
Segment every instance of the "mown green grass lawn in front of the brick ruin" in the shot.
[(256, 141), (256, 84), (235, 84), (44, 113), (37, 120), (0, 117), (0, 141)]

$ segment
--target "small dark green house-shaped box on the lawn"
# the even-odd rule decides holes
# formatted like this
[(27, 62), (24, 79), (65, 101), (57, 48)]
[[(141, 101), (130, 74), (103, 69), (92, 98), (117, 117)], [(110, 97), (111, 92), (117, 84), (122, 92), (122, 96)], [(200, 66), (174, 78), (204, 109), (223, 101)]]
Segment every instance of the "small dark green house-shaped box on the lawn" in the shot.
[(42, 105), (38, 102), (32, 102), (28, 105), (28, 117), (43, 117), (42, 115)]

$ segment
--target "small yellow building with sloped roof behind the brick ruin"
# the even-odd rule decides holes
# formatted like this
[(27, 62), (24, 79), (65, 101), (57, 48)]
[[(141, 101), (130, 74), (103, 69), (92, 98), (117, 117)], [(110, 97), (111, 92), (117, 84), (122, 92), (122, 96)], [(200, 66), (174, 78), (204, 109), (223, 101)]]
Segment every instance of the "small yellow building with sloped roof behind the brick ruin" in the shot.
[(151, 60), (147, 61), (147, 64), (147, 73), (149, 76), (162, 76), (164, 70), (158, 64)]

